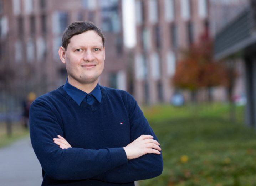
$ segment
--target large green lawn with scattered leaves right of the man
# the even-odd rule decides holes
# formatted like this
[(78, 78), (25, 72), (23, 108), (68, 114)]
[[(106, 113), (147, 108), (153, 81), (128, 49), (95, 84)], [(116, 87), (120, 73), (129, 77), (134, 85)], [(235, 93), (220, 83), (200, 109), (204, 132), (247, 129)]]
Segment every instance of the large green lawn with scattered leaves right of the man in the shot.
[(164, 170), (140, 186), (256, 186), (256, 132), (228, 105), (144, 108), (163, 150)]

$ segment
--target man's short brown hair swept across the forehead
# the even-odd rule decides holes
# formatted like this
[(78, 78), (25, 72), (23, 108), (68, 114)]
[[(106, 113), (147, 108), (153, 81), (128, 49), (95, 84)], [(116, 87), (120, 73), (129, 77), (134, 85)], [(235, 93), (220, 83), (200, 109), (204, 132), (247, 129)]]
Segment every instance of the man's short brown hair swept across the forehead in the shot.
[(62, 47), (67, 49), (67, 46), (70, 42), (70, 38), (74, 35), (81, 34), (88, 30), (94, 30), (99, 36), (102, 38), (102, 43), (104, 46), (105, 38), (101, 32), (101, 30), (90, 21), (75, 21), (67, 26), (62, 35)]

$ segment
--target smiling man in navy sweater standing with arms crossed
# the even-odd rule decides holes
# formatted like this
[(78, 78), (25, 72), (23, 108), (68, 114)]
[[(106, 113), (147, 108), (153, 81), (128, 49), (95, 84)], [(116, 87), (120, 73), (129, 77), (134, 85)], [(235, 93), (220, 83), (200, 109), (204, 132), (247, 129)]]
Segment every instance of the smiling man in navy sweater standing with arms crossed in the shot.
[(42, 185), (134, 185), (162, 173), (161, 148), (133, 96), (103, 87), (102, 32), (74, 22), (59, 49), (64, 86), (30, 108), (30, 137), (42, 166)]

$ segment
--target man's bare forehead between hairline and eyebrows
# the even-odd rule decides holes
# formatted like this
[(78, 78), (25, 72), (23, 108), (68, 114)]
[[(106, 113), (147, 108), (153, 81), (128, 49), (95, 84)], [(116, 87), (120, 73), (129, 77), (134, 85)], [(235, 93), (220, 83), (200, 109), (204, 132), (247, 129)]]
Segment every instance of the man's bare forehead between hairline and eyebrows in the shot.
[(68, 46), (71, 48), (76, 46), (103, 46), (102, 38), (95, 31), (88, 30), (78, 35), (74, 35), (70, 38)]

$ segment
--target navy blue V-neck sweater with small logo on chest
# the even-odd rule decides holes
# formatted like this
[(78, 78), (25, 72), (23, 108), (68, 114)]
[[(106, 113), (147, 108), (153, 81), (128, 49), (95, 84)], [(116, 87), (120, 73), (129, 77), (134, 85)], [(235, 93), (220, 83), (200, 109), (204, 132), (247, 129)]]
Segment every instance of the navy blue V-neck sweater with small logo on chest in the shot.
[[(63, 87), (30, 107), (30, 138), (42, 166), (42, 185), (134, 185), (162, 173), (162, 154), (127, 160), (123, 149), (142, 134), (155, 136), (126, 91), (100, 86), (102, 101), (77, 103)], [(53, 142), (63, 136), (72, 148)]]

